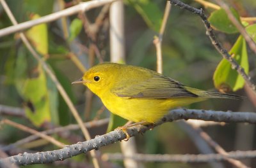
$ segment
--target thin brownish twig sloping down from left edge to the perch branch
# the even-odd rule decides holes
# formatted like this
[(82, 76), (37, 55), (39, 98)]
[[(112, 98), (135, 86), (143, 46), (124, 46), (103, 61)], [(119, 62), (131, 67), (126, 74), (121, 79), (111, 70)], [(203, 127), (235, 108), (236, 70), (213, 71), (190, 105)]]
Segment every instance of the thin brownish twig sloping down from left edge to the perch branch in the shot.
[(57, 141), (53, 137), (47, 136), (45, 134), (42, 134), (41, 132), (38, 132), (37, 130), (31, 129), (29, 127), (26, 127), (25, 125), (21, 125), (19, 123), (15, 123), (15, 122), (12, 122), (11, 120), (7, 120), (7, 119), (2, 120), (1, 124), (3, 124), (3, 123), (11, 125), (12, 127), (15, 127), (17, 129), (23, 130), (25, 132), (29, 132), (30, 134), (34, 134), (34, 135), (36, 135), (38, 137), (41, 137), (42, 139), (45, 139), (45, 140), (49, 141), (52, 144), (55, 144), (56, 146), (58, 146), (60, 148), (63, 148), (65, 146), (65, 144), (61, 143), (60, 141)]

